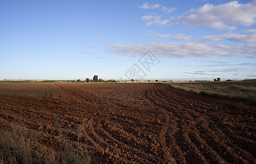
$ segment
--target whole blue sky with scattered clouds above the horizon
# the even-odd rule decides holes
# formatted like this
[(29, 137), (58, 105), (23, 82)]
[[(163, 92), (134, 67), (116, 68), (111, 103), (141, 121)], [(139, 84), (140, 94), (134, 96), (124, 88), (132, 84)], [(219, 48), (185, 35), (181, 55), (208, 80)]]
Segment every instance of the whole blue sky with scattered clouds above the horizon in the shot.
[(0, 79), (256, 78), (255, 0), (0, 1), (0, 25)]

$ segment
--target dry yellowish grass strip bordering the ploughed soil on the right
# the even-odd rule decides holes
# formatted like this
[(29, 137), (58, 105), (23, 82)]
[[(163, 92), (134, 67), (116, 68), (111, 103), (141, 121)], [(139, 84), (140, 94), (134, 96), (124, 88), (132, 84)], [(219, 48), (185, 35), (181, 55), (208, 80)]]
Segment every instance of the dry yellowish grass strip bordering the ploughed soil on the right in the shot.
[[(220, 83), (221, 84), (221, 83)], [(172, 87), (200, 95), (228, 97), (244, 101), (256, 101), (256, 87), (237, 85), (211, 85), (207, 83), (172, 83)]]

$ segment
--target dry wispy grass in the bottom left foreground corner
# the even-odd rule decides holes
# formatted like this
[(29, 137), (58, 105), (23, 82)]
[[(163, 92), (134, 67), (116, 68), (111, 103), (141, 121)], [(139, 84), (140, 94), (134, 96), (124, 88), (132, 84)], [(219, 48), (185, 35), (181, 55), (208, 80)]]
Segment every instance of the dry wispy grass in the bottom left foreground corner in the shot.
[[(37, 139), (24, 125), (12, 124), (10, 130), (0, 130), (0, 163), (91, 163), (91, 156), (86, 147), (79, 144), (79, 134), (76, 147), (65, 139), (65, 131), (61, 135), (62, 155), (60, 161), (52, 149), (39, 148)], [(43, 149), (43, 153), (42, 150)], [(43, 155), (44, 154), (44, 155)]]

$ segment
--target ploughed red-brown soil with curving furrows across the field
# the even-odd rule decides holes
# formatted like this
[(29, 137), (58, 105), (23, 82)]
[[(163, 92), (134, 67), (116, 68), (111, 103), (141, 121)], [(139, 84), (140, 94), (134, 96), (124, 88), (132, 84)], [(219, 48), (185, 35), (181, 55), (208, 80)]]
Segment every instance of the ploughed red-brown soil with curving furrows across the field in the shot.
[(0, 84), (1, 128), (22, 122), (59, 158), (64, 131), (93, 163), (255, 163), (255, 107), (168, 84)]

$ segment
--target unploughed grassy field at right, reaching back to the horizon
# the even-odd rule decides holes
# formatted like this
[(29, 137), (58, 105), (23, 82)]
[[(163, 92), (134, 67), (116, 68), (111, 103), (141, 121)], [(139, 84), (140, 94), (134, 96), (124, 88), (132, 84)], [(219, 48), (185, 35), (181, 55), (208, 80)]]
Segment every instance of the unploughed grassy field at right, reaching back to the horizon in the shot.
[(171, 86), (185, 91), (200, 93), (201, 95), (256, 101), (256, 80), (179, 82), (172, 83)]

